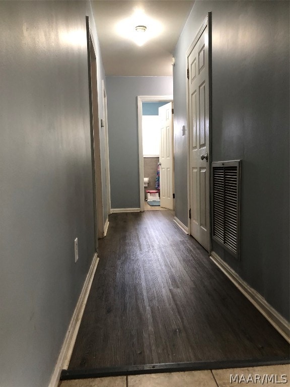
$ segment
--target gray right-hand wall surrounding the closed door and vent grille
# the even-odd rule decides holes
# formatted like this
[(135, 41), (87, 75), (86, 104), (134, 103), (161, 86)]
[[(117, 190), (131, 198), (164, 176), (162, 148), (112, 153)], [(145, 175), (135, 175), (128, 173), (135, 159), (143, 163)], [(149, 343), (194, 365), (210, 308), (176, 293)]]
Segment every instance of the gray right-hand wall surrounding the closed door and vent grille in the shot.
[[(289, 319), (289, 2), (197, 1), (175, 50), (175, 206), (187, 224), (186, 50), (212, 12), (212, 161), (242, 159), (241, 260), (213, 250)], [(177, 129), (177, 130), (176, 130)]]

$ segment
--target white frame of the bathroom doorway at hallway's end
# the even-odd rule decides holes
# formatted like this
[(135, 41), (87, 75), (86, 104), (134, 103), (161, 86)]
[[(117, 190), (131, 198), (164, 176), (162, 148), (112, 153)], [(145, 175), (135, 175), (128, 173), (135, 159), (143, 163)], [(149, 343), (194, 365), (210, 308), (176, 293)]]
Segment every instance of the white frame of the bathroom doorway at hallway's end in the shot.
[(173, 95), (139, 95), (138, 106), (138, 143), (139, 143), (139, 187), (140, 187), (140, 211), (144, 212), (144, 163), (142, 140), (142, 102), (173, 102)]

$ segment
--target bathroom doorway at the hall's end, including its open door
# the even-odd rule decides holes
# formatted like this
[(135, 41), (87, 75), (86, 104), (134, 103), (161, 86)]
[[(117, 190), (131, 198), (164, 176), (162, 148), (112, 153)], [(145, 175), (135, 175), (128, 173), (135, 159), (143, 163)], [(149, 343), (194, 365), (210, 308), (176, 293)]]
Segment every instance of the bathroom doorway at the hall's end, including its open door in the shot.
[[(143, 212), (145, 208), (173, 209), (173, 97), (138, 96), (137, 102), (140, 211)], [(164, 161), (169, 160), (168, 166), (165, 162), (162, 165), (162, 157)], [(155, 192), (146, 192), (147, 190)], [(168, 205), (167, 197), (171, 199), (171, 206)], [(146, 203), (147, 199), (151, 206)]]

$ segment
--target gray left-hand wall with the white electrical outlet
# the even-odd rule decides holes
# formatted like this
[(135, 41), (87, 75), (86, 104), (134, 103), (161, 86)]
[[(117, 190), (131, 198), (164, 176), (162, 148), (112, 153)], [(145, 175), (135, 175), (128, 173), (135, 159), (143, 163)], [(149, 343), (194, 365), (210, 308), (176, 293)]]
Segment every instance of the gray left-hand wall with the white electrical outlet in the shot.
[(3, 387), (48, 385), (95, 251), (86, 15), (83, 1), (0, 2)]

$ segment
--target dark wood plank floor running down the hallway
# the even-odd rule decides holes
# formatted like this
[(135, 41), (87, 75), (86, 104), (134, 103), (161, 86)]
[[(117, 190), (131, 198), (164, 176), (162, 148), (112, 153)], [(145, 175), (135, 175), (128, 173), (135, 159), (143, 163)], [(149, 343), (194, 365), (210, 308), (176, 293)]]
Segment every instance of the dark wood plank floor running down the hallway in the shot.
[(68, 370), (288, 357), (171, 211), (112, 214), (99, 256)]

